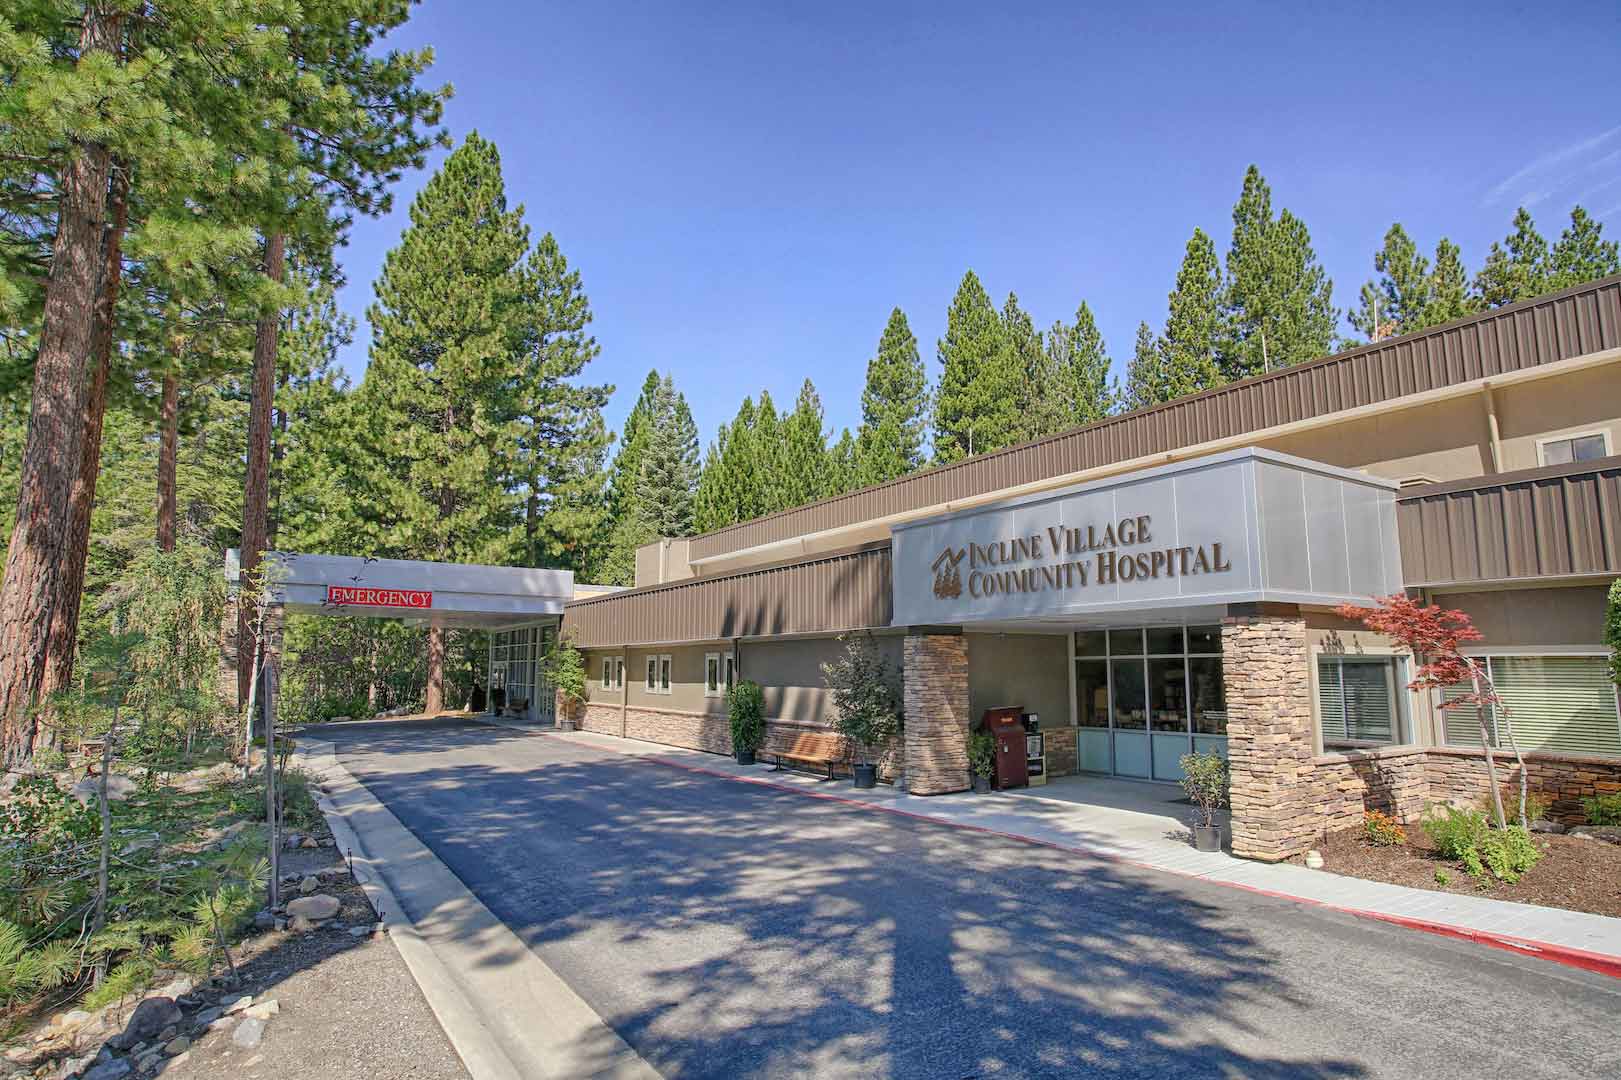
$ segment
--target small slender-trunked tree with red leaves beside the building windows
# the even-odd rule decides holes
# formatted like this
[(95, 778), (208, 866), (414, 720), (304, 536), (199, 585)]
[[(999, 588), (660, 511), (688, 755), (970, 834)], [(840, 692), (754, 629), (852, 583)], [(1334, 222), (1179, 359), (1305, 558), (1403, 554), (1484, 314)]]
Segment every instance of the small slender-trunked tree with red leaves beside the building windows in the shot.
[(1418, 603), (1417, 600), (1394, 594), (1375, 598), (1371, 608), (1344, 603), (1337, 608), (1341, 618), (1362, 623), (1376, 634), (1384, 634), (1391, 641), (1404, 645), (1414, 654), (1417, 668), (1409, 689), (1449, 689), (1469, 686), (1469, 692), (1452, 694), (1441, 701), (1441, 709), (1457, 705), (1475, 705), (1480, 717), (1480, 748), (1486, 752), (1486, 782), (1491, 785), (1491, 806), (1496, 811), (1498, 829), (1506, 825), (1503, 816), (1503, 795), (1498, 790), (1498, 769), (1491, 757), (1491, 733), (1486, 728), (1486, 707), (1501, 720), (1499, 728), (1508, 736), (1514, 749), (1514, 761), (1519, 764), (1519, 819), (1525, 821), (1525, 759), (1514, 743), (1514, 728), (1509, 725), (1509, 710), (1498, 696), (1498, 688), (1491, 681), (1491, 673), (1485, 663), (1475, 657), (1464, 655), (1462, 645), (1467, 641), (1482, 641), (1483, 634), (1475, 629), (1469, 615), (1435, 603)]

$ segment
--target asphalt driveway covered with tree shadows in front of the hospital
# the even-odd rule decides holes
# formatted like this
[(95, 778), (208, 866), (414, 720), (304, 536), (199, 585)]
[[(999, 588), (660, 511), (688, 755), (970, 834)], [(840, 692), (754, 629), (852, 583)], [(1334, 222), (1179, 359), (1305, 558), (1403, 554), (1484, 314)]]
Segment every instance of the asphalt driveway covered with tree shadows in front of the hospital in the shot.
[(473, 722), (344, 765), (671, 1077), (1615, 1077), (1621, 981)]

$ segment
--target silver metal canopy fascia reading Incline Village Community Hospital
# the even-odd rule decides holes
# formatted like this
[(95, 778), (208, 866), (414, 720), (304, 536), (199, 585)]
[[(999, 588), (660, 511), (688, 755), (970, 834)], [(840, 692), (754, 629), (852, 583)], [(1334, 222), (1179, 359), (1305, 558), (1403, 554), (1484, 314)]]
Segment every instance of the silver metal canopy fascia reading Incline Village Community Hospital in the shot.
[(1401, 587), (1394, 493), (1242, 449), (896, 525), (895, 623), (1363, 603)]

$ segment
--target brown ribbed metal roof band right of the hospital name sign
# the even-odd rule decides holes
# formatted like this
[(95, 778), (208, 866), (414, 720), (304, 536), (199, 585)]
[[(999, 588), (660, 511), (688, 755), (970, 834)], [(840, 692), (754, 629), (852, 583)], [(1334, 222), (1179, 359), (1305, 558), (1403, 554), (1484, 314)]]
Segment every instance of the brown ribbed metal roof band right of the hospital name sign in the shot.
[(1621, 457), (1407, 488), (1409, 587), (1621, 574)]

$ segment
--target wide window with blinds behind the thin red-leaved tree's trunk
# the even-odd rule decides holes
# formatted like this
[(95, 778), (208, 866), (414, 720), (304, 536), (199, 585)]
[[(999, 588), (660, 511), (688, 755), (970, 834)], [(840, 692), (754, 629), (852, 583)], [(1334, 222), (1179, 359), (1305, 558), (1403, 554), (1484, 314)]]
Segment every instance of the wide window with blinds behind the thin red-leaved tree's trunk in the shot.
[[(1483, 657), (1491, 683), (1508, 707), (1520, 749), (1621, 756), (1621, 710), (1603, 657)], [(1448, 688), (1443, 701), (1469, 694)], [(1508, 746), (1496, 709), (1486, 707), (1486, 735)], [(1441, 710), (1449, 746), (1480, 746), (1475, 705)]]

